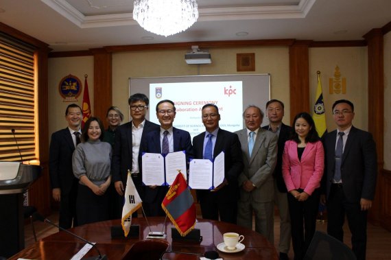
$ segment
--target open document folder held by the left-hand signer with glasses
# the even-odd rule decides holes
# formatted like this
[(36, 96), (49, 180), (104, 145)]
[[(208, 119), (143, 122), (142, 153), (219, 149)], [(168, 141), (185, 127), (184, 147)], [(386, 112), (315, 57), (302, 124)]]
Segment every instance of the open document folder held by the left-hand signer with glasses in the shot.
[(182, 172), (186, 179), (186, 154), (185, 151), (165, 155), (145, 152), (142, 167), (144, 185), (168, 186), (174, 182), (178, 172)]

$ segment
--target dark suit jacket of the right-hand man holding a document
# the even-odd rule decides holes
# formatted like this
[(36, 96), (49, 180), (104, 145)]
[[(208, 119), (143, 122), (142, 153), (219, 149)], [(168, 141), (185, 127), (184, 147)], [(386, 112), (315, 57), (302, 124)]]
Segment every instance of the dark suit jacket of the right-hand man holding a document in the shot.
[[(193, 138), (193, 152), (194, 157), (197, 159), (203, 158), (204, 153), (204, 138), (205, 132), (198, 134)], [(233, 202), (239, 198), (239, 185), (237, 178), (243, 170), (243, 158), (241, 154), (241, 146), (237, 134), (222, 130), (221, 128), (217, 132), (217, 139), (215, 143), (215, 149), (213, 150), (213, 158), (224, 151), (224, 176), (228, 181), (228, 185), (222, 187), (219, 191), (215, 192), (217, 196), (217, 202)], [(197, 191), (198, 200), (202, 201), (207, 199), (211, 191), (205, 189), (199, 189)]]

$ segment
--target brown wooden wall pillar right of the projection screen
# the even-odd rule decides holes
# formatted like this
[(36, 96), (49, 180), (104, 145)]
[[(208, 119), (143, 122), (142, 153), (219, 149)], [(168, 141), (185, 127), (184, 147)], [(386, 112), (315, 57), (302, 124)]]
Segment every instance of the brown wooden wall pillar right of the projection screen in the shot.
[(309, 111), (309, 45), (310, 40), (298, 40), (289, 46), (290, 121), (296, 114)]

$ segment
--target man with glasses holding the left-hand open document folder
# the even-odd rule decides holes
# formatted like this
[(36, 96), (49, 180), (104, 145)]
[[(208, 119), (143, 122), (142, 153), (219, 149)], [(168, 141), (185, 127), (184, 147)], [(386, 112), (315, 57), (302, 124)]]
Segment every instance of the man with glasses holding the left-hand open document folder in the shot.
[[(156, 163), (156, 167), (145, 167), (145, 162), (142, 163), (143, 167), (141, 167), (141, 172), (143, 181), (147, 182), (147, 175), (156, 175), (156, 172), (151, 171), (156, 171), (156, 169), (159, 169), (160, 176), (163, 176), (163, 179), (165, 179), (164, 182), (167, 182), (164, 183), (161, 181), (161, 185), (163, 186), (158, 185), (160, 184), (158, 181), (155, 182), (155, 185), (148, 185), (149, 183), (144, 183), (146, 186), (145, 195), (143, 198), (143, 209), (145, 211), (145, 215), (148, 217), (165, 215), (165, 212), (161, 208), (161, 203), (163, 202), (163, 199), (165, 198), (165, 195), (169, 189), (168, 185), (171, 185), (171, 183), (169, 183), (170, 181), (167, 181), (167, 172), (169, 172), (169, 174), (175, 174), (175, 176), (178, 174), (177, 170), (180, 170), (181, 172), (187, 172), (186, 168), (175, 169), (175, 172), (173, 172), (172, 170), (167, 169), (167, 167), (162, 167), (162, 165), (164, 165), (164, 163), (161, 163), (163, 155), (165, 156), (164, 160), (166, 161), (167, 165), (167, 160), (171, 160), (171, 162), (180, 161), (182, 151), (185, 151), (186, 158), (192, 154), (191, 138), (189, 132), (174, 128), (172, 126), (175, 115), (176, 108), (174, 106), (174, 102), (168, 99), (158, 102), (156, 105), (156, 117), (158, 117), (158, 120), (161, 123), (161, 127), (157, 130), (149, 132), (141, 143), (140, 150), (142, 160), (143, 156), (145, 156), (144, 153), (148, 153), (147, 155), (151, 157), (148, 158), (149, 165), (147, 166), (151, 166), (151, 163)], [(152, 158), (152, 156), (154, 158)], [(158, 158), (159, 156), (161, 156), (161, 158)], [(147, 169), (144, 169), (144, 167)], [(166, 176), (166, 178), (164, 176)], [(152, 180), (149, 179), (148, 181)]]

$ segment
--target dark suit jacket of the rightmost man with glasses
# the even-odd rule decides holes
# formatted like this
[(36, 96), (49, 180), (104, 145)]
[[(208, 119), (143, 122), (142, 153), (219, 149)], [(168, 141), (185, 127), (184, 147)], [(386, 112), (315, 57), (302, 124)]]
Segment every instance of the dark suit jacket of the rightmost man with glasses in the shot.
[[(324, 137), (324, 178), (323, 187), (327, 197), (335, 168), (335, 142), (337, 130)], [(352, 126), (342, 154), (341, 177), (344, 194), (349, 202), (361, 198), (373, 200), (377, 176), (377, 153), (372, 134)]]

